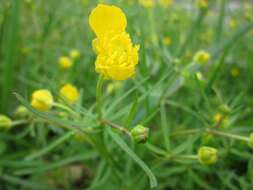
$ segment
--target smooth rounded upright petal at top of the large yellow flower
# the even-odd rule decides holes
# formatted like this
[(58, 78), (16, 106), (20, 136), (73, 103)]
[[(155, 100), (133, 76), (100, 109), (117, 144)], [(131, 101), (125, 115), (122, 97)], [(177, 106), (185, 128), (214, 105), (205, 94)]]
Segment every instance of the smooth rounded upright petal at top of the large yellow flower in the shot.
[(106, 32), (123, 32), (126, 29), (127, 20), (124, 12), (113, 5), (98, 4), (89, 16), (89, 24), (99, 37)]

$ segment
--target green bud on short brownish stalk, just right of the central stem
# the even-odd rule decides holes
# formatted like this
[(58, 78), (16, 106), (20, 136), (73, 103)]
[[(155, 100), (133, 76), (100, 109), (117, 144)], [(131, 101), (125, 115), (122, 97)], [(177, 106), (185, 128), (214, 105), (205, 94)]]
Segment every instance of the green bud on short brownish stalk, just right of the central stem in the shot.
[(131, 130), (131, 136), (133, 141), (137, 143), (145, 143), (148, 139), (149, 128), (137, 125)]

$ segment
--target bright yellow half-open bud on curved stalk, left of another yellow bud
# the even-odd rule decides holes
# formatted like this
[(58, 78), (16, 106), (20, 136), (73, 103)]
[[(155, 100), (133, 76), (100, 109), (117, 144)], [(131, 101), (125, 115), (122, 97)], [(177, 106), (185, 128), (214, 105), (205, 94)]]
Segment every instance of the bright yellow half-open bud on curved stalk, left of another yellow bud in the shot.
[(31, 105), (39, 111), (48, 111), (54, 103), (53, 96), (49, 90), (36, 90), (32, 94)]

